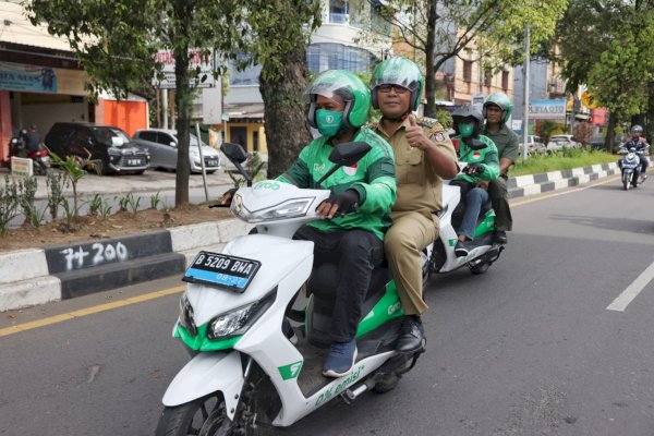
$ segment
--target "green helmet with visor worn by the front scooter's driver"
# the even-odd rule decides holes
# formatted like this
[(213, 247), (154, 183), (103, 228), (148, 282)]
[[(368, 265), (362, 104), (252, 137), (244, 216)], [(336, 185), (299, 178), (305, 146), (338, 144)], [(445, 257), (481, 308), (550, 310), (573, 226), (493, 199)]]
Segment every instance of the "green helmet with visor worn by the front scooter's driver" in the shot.
[(304, 92), (308, 98), (306, 120), (312, 128), (316, 124), (316, 98), (337, 95), (346, 102), (343, 125), (356, 129), (365, 124), (371, 109), (371, 92), (356, 75), (344, 70), (328, 70), (320, 73)]

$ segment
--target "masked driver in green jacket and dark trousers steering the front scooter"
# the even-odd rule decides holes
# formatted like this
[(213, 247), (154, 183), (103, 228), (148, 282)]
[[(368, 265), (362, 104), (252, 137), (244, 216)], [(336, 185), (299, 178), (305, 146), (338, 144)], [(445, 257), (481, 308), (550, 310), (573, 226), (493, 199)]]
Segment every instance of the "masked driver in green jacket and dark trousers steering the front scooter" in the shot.
[[(359, 77), (348, 71), (325, 71), (305, 96), (308, 123), (322, 136), (304, 147), (278, 180), (316, 189), (316, 182), (334, 167), (329, 161), (334, 145), (363, 141), (372, 147), (356, 165), (339, 169), (322, 183), (323, 189), (331, 191), (316, 208), (323, 219), (302, 227), (293, 237), (314, 242), (314, 268), (325, 263), (338, 266), (332, 342), (323, 375), (342, 377), (356, 360), (354, 336), (373, 268), (384, 261), (384, 233), (396, 199), (395, 164), (388, 143), (362, 126), (370, 111), (371, 93)], [(223, 195), (223, 204), (231, 202), (234, 191)]]

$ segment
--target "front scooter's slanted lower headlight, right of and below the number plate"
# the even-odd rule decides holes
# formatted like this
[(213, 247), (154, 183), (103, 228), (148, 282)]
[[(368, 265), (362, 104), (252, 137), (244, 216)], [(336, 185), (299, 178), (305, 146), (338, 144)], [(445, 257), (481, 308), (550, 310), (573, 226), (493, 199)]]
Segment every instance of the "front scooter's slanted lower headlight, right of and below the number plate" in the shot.
[(272, 305), (277, 290), (262, 300), (217, 316), (209, 323), (207, 338), (229, 339), (245, 334), (250, 327)]

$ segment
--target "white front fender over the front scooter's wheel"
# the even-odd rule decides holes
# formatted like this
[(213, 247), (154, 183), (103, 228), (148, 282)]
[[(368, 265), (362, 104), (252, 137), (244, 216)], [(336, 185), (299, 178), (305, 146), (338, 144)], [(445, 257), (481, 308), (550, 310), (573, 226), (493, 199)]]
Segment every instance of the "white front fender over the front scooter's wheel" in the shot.
[(243, 380), (240, 352), (199, 353), (175, 375), (162, 402), (166, 407), (180, 405), (219, 390), (227, 415), (233, 420)]

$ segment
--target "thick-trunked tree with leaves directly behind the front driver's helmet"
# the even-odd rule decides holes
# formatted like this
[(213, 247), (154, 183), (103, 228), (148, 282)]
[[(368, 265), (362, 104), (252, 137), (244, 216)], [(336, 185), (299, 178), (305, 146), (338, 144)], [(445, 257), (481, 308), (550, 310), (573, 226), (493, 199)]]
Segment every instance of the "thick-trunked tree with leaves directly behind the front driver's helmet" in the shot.
[[(262, 65), (259, 90), (268, 145), (268, 177), (282, 173), (311, 141), (302, 94), (306, 45), (320, 25), (317, 0), (250, 0), (239, 50)], [(232, 56), (235, 55), (232, 52)]]

